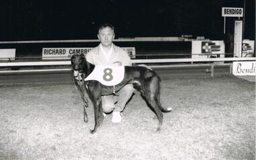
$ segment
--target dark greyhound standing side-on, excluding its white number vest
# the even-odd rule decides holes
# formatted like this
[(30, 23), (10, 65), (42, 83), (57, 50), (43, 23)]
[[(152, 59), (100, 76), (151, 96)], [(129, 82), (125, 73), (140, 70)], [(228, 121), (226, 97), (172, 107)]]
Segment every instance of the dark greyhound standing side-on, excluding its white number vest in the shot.
[[(71, 56), (71, 66), (73, 76), (82, 75), (83, 79), (88, 77), (96, 68), (95, 65), (88, 63), (84, 54), (74, 54)], [(103, 122), (102, 95), (110, 95), (119, 91), (127, 84), (133, 84), (133, 87), (141, 93), (141, 97), (146, 101), (150, 109), (158, 118), (157, 131), (161, 129), (163, 114), (170, 112), (172, 108), (162, 108), (160, 104), (160, 77), (155, 71), (147, 67), (125, 66), (123, 80), (115, 86), (103, 85), (97, 80), (88, 80), (84, 82), (84, 89), (87, 91), (92, 104), (94, 105), (94, 129), (90, 133), (96, 132), (98, 126)]]

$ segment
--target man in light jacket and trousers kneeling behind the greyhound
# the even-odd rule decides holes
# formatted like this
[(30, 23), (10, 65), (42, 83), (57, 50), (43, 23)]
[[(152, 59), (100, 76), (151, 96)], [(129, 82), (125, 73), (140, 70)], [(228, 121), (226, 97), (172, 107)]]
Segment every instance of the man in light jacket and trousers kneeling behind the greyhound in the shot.
[[(92, 48), (92, 50), (86, 54), (86, 60), (93, 65), (130, 66), (131, 58), (123, 48), (113, 44), (114, 38), (115, 28), (111, 24), (100, 26), (98, 29), (98, 39), (100, 40), (100, 44), (95, 48)], [(102, 96), (103, 112), (108, 114), (113, 111), (113, 123), (121, 122), (121, 112), (123, 112), (133, 91), (133, 85), (128, 84), (115, 95)]]

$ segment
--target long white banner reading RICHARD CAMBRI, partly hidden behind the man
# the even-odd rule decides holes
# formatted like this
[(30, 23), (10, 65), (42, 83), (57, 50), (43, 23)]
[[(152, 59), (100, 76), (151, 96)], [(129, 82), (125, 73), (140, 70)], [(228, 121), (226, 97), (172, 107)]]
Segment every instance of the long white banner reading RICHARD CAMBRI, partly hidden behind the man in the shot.
[[(42, 48), (42, 59), (69, 59), (73, 54), (87, 54), (92, 48)], [(135, 47), (123, 47), (131, 58), (135, 58)]]

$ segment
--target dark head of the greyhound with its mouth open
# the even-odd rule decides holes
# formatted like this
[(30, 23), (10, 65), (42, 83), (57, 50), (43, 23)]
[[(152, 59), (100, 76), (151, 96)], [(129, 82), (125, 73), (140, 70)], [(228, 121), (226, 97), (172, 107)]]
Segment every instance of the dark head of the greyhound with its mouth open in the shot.
[(85, 65), (86, 58), (84, 54), (73, 54), (73, 56), (71, 56), (71, 66), (73, 68), (75, 77), (77, 77), (79, 71), (81, 71)]

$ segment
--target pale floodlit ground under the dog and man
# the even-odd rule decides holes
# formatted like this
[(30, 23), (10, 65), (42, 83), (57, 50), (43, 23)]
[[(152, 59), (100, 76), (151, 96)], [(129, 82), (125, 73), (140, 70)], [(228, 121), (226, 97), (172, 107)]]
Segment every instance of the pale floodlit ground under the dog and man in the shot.
[(111, 115), (96, 134), (70, 83), (3, 85), (0, 159), (255, 159), (255, 83), (231, 76), (162, 80), (164, 114), (135, 93), (121, 124)]

